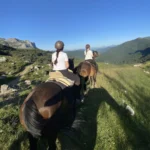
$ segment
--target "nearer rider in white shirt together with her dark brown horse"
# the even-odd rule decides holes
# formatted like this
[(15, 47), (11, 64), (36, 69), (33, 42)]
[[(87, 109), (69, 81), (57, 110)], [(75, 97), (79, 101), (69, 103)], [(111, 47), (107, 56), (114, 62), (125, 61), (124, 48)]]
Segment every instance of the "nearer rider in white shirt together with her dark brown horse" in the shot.
[(71, 63), (63, 52), (64, 43), (57, 41), (55, 48), (50, 80), (32, 89), (19, 111), (20, 123), (28, 132), (30, 150), (38, 149), (39, 138), (47, 140), (49, 150), (56, 150), (58, 132), (71, 127), (75, 119), (74, 103), (80, 97), (80, 78), (68, 71)]

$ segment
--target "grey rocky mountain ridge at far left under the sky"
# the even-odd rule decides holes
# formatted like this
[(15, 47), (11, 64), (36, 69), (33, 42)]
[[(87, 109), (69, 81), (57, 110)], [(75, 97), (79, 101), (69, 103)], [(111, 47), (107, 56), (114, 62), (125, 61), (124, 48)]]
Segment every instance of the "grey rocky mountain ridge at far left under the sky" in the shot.
[(30, 42), (28, 40), (19, 40), (16, 38), (9, 38), (9, 39), (4, 39), (0, 38), (0, 44), (17, 48), (17, 49), (36, 49), (36, 45), (34, 42)]

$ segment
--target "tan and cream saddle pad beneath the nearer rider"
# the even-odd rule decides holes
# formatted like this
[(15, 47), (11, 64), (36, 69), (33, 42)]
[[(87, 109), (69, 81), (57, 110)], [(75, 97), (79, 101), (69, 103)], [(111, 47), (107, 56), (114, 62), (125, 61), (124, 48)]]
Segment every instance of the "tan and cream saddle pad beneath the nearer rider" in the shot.
[[(63, 74), (60, 71), (55, 71), (55, 72), (50, 72), (49, 73), (49, 78), (47, 79), (46, 82), (55, 82), (61, 86), (62, 89), (65, 87), (71, 87), (74, 85), (74, 81), (68, 79), (67, 77), (63, 76)], [(63, 86), (62, 86), (63, 85)]]

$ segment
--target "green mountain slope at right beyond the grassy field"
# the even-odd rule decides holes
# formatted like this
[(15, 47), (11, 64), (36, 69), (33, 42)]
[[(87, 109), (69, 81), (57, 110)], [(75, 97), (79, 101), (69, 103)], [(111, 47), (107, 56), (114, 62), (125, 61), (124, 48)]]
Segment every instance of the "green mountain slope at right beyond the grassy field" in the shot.
[(150, 60), (150, 38), (137, 38), (110, 48), (102, 53), (98, 61), (108, 63), (139, 63)]

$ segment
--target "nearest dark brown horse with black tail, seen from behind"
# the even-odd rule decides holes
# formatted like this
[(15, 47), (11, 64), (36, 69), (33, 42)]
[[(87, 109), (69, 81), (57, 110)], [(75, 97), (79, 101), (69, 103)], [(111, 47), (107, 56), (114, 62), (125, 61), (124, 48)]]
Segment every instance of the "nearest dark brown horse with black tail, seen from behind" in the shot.
[[(70, 59), (69, 62), (74, 66), (73, 60)], [(73, 123), (72, 118), (68, 119), (68, 101), (62, 88), (51, 81), (36, 86), (28, 94), (20, 107), (19, 118), (28, 132), (30, 150), (37, 150), (39, 138), (47, 139), (49, 150), (56, 150), (58, 132)]]

